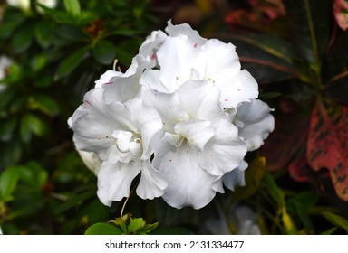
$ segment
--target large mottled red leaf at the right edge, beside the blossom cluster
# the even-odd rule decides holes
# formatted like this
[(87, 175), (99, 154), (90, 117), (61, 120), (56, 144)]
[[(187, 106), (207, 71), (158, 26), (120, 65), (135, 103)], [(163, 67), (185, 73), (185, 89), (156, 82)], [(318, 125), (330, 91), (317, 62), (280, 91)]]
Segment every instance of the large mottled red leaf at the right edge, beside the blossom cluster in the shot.
[(306, 155), (314, 171), (329, 170), (337, 195), (348, 201), (348, 107), (316, 101)]

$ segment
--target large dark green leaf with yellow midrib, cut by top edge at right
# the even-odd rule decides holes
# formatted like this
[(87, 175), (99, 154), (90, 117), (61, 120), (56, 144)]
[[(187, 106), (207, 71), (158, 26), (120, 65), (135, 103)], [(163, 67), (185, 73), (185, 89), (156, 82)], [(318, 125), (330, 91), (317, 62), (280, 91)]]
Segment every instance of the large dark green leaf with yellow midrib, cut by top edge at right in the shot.
[(330, 37), (331, 1), (284, 1), (295, 48), (307, 61), (320, 65)]

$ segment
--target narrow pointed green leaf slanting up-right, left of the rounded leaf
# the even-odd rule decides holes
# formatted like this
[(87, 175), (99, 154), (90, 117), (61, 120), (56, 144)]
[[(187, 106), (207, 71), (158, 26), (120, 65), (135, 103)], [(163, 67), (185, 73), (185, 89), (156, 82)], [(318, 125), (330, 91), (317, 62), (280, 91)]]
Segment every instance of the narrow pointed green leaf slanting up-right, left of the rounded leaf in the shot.
[(82, 49), (73, 52), (68, 58), (65, 58), (61, 64), (59, 64), (58, 69), (55, 72), (55, 79), (59, 80), (68, 74), (70, 74), (74, 69), (76, 69), (80, 63), (83, 61), (85, 54), (88, 52), (88, 47), (83, 47)]

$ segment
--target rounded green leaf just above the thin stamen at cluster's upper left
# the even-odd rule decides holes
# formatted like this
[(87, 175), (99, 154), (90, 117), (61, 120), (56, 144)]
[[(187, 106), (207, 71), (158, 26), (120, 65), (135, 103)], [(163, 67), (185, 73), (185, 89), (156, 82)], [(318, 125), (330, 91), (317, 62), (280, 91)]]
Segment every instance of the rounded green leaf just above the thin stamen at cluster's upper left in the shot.
[(97, 61), (107, 65), (115, 60), (116, 47), (109, 41), (101, 40), (94, 45), (92, 54)]

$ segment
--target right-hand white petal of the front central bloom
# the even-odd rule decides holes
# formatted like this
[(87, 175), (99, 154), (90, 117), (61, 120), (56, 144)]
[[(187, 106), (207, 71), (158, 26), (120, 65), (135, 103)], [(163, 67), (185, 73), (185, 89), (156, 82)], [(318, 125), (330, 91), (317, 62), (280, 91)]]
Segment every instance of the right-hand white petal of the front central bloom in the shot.
[(199, 155), (199, 164), (208, 173), (223, 175), (232, 171), (247, 154), (247, 145), (238, 137), (237, 127), (225, 119), (214, 123), (215, 135)]

